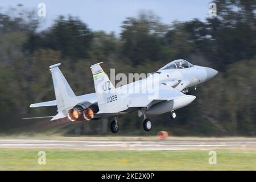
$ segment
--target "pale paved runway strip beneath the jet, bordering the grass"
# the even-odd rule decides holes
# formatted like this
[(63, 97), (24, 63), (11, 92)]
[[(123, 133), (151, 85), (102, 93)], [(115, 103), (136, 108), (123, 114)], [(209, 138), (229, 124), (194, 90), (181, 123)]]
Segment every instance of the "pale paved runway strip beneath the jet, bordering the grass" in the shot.
[(256, 140), (51, 140), (0, 139), (1, 148), (73, 148), (82, 150), (210, 150), (213, 148), (256, 148)]

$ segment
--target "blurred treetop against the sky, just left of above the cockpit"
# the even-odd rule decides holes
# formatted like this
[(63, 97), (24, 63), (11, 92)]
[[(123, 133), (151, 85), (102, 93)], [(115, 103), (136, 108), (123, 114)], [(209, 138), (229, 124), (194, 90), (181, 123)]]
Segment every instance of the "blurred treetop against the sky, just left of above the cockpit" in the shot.
[(159, 38), (164, 36), (167, 26), (157, 16), (152, 12), (141, 12), (138, 18), (123, 21), (121, 27), (122, 55), (128, 57), (133, 65), (159, 60)]

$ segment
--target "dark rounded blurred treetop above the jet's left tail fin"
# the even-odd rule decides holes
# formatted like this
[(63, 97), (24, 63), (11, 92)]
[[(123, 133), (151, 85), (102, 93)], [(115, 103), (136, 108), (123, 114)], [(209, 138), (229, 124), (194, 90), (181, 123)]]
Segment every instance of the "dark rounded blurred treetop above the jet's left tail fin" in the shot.
[(41, 41), (43, 48), (60, 51), (62, 57), (82, 59), (88, 57), (92, 38), (92, 32), (80, 19), (59, 16), (52, 27), (43, 32)]

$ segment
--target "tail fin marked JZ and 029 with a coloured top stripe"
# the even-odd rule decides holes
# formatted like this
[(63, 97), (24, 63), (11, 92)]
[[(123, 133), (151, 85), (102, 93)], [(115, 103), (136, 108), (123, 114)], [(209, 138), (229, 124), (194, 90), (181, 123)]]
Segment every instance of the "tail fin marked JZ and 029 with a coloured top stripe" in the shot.
[(116, 103), (115, 101), (118, 100), (118, 95), (115, 92), (115, 87), (109, 80), (109, 77), (101, 68), (101, 63), (94, 64), (90, 68), (92, 69), (98, 107), (100, 111), (106, 111), (110, 106)]

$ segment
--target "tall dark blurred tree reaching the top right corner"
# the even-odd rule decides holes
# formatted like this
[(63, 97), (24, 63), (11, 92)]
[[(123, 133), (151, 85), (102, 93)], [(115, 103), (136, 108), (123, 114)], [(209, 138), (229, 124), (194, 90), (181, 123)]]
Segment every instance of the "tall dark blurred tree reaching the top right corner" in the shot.
[(217, 17), (207, 19), (207, 29), (213, 43), (210, 61), (223, 70), (238, 60), (255, 55), (256, 1), (217, 0)]

